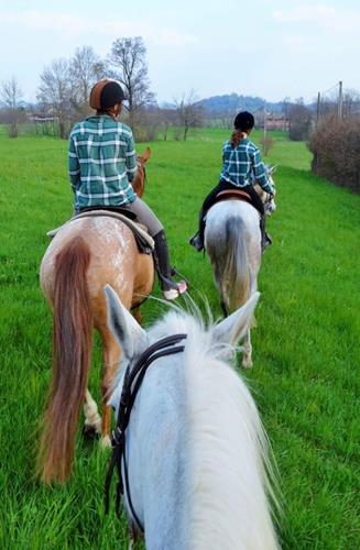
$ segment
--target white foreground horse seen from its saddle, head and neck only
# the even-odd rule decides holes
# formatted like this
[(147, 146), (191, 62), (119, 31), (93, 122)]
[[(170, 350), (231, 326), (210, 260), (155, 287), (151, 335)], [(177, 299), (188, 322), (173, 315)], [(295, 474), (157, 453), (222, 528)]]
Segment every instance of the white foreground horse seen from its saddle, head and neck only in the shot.
[(229, 365), (259, 293), (207, 330), (174, 308), (149, 332), (111, 287), (106, 294), (109, 326), (124, 350), (110, 399), (117, 411), (127, 366), (163, 337), (187, 334), (182, 353), (149, 367), (130, 415), (126, 450), (135, 517), (127, 491), (124, 505), (133, 534), (138, 517), (148, 550), (277, 549), (266, 436), (249, 389)]

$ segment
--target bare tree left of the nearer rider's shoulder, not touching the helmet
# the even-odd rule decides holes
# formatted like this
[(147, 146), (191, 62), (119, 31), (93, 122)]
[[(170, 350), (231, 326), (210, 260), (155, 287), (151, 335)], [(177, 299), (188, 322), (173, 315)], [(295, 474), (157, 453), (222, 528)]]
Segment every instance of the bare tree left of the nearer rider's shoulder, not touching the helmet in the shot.
[(47, 113), (56, 119), (59, 136), (65, 139), (68, 135), (72, 113), (69, 63), (64, 58), (53, 61), (45, 67), (40, 78), (39, 101)]

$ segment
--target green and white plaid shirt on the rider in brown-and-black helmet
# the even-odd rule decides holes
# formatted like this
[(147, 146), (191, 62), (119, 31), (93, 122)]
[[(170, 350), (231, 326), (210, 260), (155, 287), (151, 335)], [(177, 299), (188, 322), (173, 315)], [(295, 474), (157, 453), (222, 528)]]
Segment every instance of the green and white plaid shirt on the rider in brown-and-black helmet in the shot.
[(130, 182), (137, 173), (137, 154), (130, 128), (108, 114), (75, 124), (68, 173), (76, 209), (133, 202), (137, 196)]

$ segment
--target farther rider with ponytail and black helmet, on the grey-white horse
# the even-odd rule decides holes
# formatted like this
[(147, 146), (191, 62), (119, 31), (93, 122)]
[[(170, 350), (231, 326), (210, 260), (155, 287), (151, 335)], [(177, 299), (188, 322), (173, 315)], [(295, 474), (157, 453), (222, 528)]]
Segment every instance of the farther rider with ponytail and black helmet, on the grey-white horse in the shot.
[(262, 249), (271, 244), (271, 239), (265, 232), (264, 205), (253, 184), (258, 183), (270, 195), (273, 195), (274, 189), (266, 176), (259, 148), (249, 140), (249, 134), (254, 127), (254, 118), (250, 112), (239, 112), (233, 125), (231, 139), (222, 146), (220, 182), (206, 197), (199, 213), (198, 232), (189, 240), (197, 251), (204, 249), (205, 216), (215, 205), (217, 195), (220, 191), (237, 188), (250, 195), (252, 205), (259, 210)]

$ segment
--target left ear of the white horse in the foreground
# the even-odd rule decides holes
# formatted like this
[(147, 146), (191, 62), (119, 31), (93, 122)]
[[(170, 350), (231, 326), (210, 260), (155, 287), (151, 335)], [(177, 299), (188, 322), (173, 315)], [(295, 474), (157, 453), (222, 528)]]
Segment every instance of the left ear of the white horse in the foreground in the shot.
[(121, 304), (119, 296), (110, 285), (105, 287), (108, 304), (108, 326), (117, 338), (121, 349), (131, 360), (134, 350), (142, 351), (148, 342), (146, 332)]

